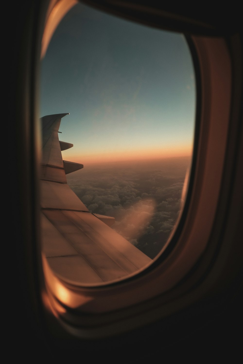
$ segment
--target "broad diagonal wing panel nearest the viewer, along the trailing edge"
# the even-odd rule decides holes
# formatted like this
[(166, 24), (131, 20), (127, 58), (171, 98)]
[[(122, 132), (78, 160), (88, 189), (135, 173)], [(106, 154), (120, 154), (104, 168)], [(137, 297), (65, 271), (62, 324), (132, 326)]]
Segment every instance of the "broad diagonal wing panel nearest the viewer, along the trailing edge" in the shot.
[[(52, 237), (54, 235), (56, 237), (59, 235), (62, 236), (62, 254), (59, 252), (58, 239), (55, 240), (57, 257), (64, 256), (64, 249), (67, 249), (67, 245), (69, 244), (74, 250), (70, 250), (70, 254), (66, 255), (79, 255), (82, 257), (82, 261), (85, 261), (83, 264), (89, 264), (103, 281), (122, 278), (139, 269), (134, 265), (134, 259), (132, 257), (135, 254), (137, 257), (137, 264), (138, 262), (140, 264), (141, 257), (144, 254), (139, 251), (141, 257), (137, 256), (138, 249), (116, 232), (114, 232), (113, 236), (115, 239), (110, 239), (111, 229), (92, 214), (60, 210), (44, 210), (43, 214), (56, 231), (55, 234), (52, 232)], [(47, 227), (50, 229), (50, 226), (46, 223), (44, 229)], [(66, 243), (65, 245), (64, 241)], [(125, 245), (126, 249), (123, 245)], [(46, 246), (48, 246), (48, 244), (46, 244)], [(53, 246), (54, 243), (52, 242), (52, 249)], [(123, 249), (120, 249), (121, 246)], [(54, 257), (54, 254), (55, 253), (52, 253), (52, 257)], [(131, 258), (133, 262), (131, 261)], [(79, 264), (81, 264), (81, 261), (78, 261)], [(146, 264), (148, 264), (148, 260), (146, 260)], [(62, 268), (59, 268), (59, 274), (65, 276), (66, 272), (65, 270), (62, 271)], [(83, 277), (83, 279), (84, 278), (85, 277)]]

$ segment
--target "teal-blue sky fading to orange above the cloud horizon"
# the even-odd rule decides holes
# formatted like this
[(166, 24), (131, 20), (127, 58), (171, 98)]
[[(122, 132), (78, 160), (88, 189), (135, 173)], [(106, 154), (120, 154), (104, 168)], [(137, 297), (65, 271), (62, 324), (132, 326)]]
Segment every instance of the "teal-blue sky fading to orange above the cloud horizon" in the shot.
[(63, 159), (82, 164), (189, 156), (195, 76), (183, 35), (77, 4), (42, 60), (40, 117), (69, 112)]

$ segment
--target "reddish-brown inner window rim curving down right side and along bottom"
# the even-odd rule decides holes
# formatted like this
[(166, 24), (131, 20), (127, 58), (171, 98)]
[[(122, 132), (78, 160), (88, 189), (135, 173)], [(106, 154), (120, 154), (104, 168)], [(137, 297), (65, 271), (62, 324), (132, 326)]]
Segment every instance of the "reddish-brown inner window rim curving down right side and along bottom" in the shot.
[[(94, 329), (95, 336), (102, 335), (106, 320), (110, 325), (109, 313), (114, 310), (120, 310), (120, 320), (124, 323), (124, 319), (128, 314), (126, 310), (131, 306), (136, 306), (134, 311), (136, 311), (136, 316), (138, 317), (138, 312), (140, 310), (143, 312), (144, 305), (146, 306), (144, 302), (149, 300), (151, 305), (151, 300), (157, 301), (154, 297), (160, 297), (159, 300), (162, 300), (162, 302), (166, 302), (168, 299), (169, 301), (175, 300), (175, 297), (177, 297), (177, 289), (175, 287), (183, 277), (189, 274), (207, 248), (217, 209), (220, 181), (224, 167), (225, 146), (227, 145), (231, 67), (228, 51), (222, 40), (194, 38), (192, 41), (197, 48), (201, 69), (204, 70), (204, 75), (201, 75), (200, 92), (201, 110), (203, 112), (199, 121), (200, 137), (196, 146), (197, 156), (194, 166), (193, 186), (191, 183), (189, 187), (191, 188), (191, 198), (183, 222), (183, 228), (180, 231), (180, 235), (178, 236), (177, 234), (175, 237), (176, 244), (173, 246), (173, 250), (170, 249), (170, 254), (168, 254), (166, 259), (161, 254), (161, 257), (158, 257), (149, 268), (142, 270), (140, 273), (133, 274), (132, 277), (125, 278), (115, 284), (108, 283), (97, 287), (67, 284), (57, 278), (48, 268), (46, 262), (44, 262), (44, 276), (53, 295), (52, 305), (56, 305), (56, 310), (60, 317), (63, 316), (64, 320), (71, 320), (72, 324), (81, 325), (82, 327), (84, 322), (85, 325), (89, 326), (90, 320), (90, 318), (84, 319), (83, 314), (102, 315), (101, 322), (103, 322), (103, 325), (99, 329)], [(222, 54), (224, 54), (224, 57), (222, 57)], [(220, 62), (222, 63), (221, 65)], [(222, 87), (222, 90), (224, 90), (224, 95), (222, 97), (224, 98), (224, 107), (222, 107), (221, 103), (216, 104), (214, 100), (212, 101), (212, 98), (216, 98), (218, 82), (220, 79), (222, 80), (223, 75), (224, 87)], [(225, 75), (228, 75), (228, 79)], [(212, 107), (212, 103), (214, 107)], [(211, 120), (215, 120), (213, 124)], [(215, 151), (215, 136), (219, 134), (219, 128), (222, 143), (219, 144)], [(221, 149), (219, 149), (220, 145)], [(212, 153), (212, 150), (214, 150), (214, 153)], [(214, 159), (212, 156), (214, 156)], [(209, 206), (208, 210), (207, 206)], [(204, 228), (200, 229), (200, 224), (203, 220)], [(169, 246), (171, 242), (167, 244)], [(45, 261), (44, 257), (43, 261)], [(63, 295), (60, 294), (61, 291), (63, 291)], [(172, 297), (174, 298), (172, 299)], [(194, 300), (197, 300), (196, 294)], [(186, 304), (185, 302), (184, 298), (184, 304)], [(71, 318), (68, 312), (69, 308), (77, 309), (77, 315), (75, 315), (74, 319)], [(160, 312), (159, 315), (163, 316), (164, 312)], [(114, 330), (122, 330), (120, 320), (114, 324)], [(91, 319), (91, 327), (92, 321)], [(134, 317), (132, 321), (134, 321)], [(139, 325), (144, 324), (143, 316), (140, 317), (138, 322)], [(135, 327), (137, 326), (132, 328)], [(127, 329), (127, 323), (124, 329)], [(84, 329), (82, 329), (83, 331)]]

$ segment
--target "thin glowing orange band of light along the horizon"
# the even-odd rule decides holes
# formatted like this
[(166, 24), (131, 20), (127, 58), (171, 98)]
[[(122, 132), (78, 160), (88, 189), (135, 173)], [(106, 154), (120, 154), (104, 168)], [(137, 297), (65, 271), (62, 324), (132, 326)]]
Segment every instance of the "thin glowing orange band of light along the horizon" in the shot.
[(176, 157), (191, 157), (192, 146), (181, 146), (171, 149), (156, 150), (128, 150), (114, 151), (113, 153), (95, 153), (95, 154), (78, 154), (62, 152), (64, 160), (82, 164), (109, 163), (109, 162), (126, 162), (126, 161), (146, 161), (150, 159), (164, 159)]

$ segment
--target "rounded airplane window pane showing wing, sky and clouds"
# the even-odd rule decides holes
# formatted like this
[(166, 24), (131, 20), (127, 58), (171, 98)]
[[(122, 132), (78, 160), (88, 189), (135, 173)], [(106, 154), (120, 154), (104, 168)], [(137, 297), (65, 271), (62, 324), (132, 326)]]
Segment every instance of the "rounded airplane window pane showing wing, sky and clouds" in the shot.
[(80, 3), (64, 16), (40, 90), (43, 250), (56, 274), (113, 282), (163, 251), (185, 200), (195, 108), (183, 34)]

